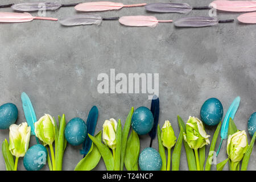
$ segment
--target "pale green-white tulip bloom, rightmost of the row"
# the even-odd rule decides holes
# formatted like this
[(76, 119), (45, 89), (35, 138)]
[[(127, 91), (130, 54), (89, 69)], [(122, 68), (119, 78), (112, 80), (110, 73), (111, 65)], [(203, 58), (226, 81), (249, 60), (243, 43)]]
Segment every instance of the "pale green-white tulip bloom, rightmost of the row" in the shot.
[(228, 153), (229, 159), (232, 162), (240, 162), (247, 150), (247, 147), (247, 136), (244, 130), (237, 131), (237, 133), (229, 135), (226, 152)]

